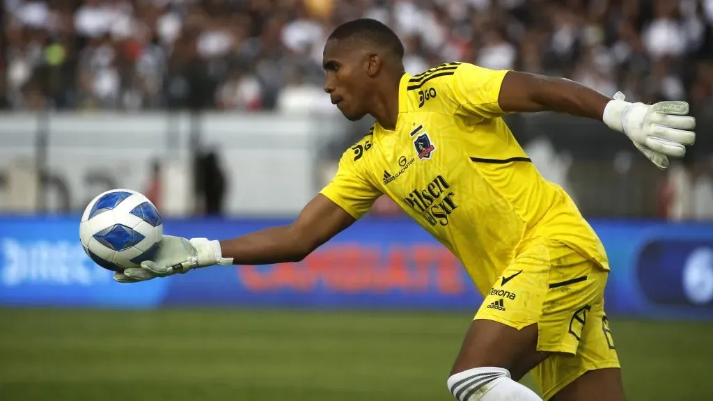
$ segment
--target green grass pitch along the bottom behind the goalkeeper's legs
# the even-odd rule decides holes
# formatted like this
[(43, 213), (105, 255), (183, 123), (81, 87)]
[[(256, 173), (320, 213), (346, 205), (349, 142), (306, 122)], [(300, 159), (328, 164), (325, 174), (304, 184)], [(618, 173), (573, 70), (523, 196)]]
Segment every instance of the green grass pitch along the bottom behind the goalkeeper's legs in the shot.
[[(451, 400), (470, 316), (0, 310), (0, 400)], [(629, 400), (710, 400), (713, 323), (612, 319)]]

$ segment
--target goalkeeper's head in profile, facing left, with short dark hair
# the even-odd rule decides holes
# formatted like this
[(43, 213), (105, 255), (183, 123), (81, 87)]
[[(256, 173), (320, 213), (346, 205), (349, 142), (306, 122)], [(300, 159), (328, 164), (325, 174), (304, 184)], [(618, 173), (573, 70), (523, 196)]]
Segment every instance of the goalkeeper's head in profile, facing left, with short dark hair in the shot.
[(388, 97), (398, 93), (404, 74), (404, 45), (388, 26), (375, 19), (355, 19), (337, 26), (323, 56), (327, 71), (324, 91), (349, 120), (374, 115), (374, 109), (383, 108), (383, 103), (398, 102), (398, 98)]

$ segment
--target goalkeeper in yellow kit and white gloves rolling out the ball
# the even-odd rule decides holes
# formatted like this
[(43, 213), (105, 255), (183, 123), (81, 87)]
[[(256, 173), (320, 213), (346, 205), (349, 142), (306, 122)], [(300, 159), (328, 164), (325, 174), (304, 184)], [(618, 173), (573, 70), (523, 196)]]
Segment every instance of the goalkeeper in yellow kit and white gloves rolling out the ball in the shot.
[(394, 32), (371, 19), (329, 37), (324, 90), (349, 120), (369, 114), (376, 123), (293, 223), (220, 241), (165, 235), (153, 260), (115, 279), (302, 260), (384, 194), (456, 255), (485, 297), (447, 380), (456, 399), (540, 400), (518, 383), (533, 370), (548, 400), (624, 400), (602, 243), (502, 116), (598, 119), (665, 169), (694, 142), (688, 104), (629, 103), (563, 78), (458, 62), (410, 76), (403, 56)]

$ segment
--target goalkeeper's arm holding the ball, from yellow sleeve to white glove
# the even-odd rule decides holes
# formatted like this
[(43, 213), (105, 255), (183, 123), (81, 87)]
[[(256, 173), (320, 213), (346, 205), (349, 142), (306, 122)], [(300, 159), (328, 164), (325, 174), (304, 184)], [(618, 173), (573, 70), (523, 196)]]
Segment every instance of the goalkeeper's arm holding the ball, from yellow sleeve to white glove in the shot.
[(149, 255), (140, 267), (116, 273), (120, 283), (151, 280), (193, 268), (212, 265), (268, 265), (304, 259), (366, 213), (381, 196), (358, 163), (368, 156), (371, 136), (344, 152), (332, 182), (307, 203), (291, 224), (242, 235), (230, 240), (208, 240), (163, 235), (155, 255)]

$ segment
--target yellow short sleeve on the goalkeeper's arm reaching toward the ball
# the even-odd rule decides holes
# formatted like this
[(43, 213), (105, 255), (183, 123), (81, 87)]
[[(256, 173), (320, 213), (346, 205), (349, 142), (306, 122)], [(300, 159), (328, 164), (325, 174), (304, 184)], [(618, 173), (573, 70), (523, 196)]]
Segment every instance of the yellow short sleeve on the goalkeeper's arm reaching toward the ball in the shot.
[(381, 191), (371, 185), (356, 166), (358, 162), (354, 161), (354, 153), (345, 152), (339, 161), (337, 175), (319, 192), (356, 219), (369, 211), (376, 198), (381, 196)]

